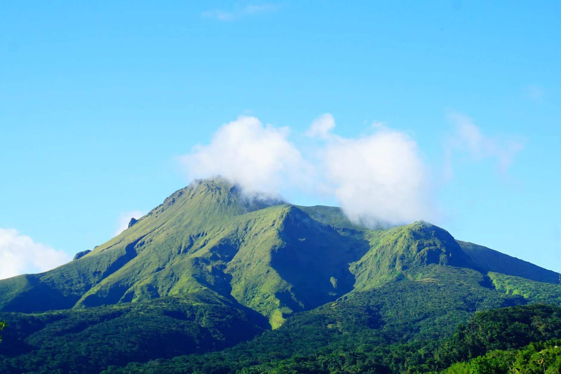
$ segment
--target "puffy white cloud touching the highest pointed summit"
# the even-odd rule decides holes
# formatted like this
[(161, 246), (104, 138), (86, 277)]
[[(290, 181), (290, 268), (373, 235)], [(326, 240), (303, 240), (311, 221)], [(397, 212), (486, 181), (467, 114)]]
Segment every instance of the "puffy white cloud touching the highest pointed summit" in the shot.
[(264, 126), (255, 117), (223, 124), (209, 145), (197, 145), (181, 157), (189, 177), (222, 176), (247, 193), (278, 193), (304, 181), (309, 168), (287, 140), (288, 127)]

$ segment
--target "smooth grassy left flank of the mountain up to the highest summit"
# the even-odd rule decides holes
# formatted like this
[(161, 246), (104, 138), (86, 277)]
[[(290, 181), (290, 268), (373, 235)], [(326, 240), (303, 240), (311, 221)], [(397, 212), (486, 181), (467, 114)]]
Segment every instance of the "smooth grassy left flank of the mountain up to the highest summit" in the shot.
[[(236, 198), (239, 201), (233, 201)], [(178, 252), (181, 255), (204, 247), (209, 237), (231, 224), (233, 217), (263, 206), (244, 200), (223, 181), (188, 186), (79, 260), (46, 273), (0, 281), (0, 306), (2, 311), (22, 312), (63, 309), (84, 304), (89, 295), (98, 297), (85, 304), (118, 302), (127, 285), (142, 275), (173, 265)], [(143, 252), (140, 264), (137, 257)], [(135, 263), (141, 265), (141, 274), (131, 274)]]

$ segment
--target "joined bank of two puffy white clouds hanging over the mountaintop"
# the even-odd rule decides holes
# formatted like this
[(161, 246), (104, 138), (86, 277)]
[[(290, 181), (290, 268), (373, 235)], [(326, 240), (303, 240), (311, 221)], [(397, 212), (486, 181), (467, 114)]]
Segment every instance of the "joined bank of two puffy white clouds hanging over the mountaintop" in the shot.
[(181, 160), (190, 178), (220, 175), (250, 192), (300, 188), (335, 197), (351, 220), (370, 227), (434, 216), (426, 168), (410, 136), (376, 123), (371, 135), (343, 138), (334, 127), (331, 114), (316, 118), (304, 157), (288, 141), (287, 127), (239, 117)]

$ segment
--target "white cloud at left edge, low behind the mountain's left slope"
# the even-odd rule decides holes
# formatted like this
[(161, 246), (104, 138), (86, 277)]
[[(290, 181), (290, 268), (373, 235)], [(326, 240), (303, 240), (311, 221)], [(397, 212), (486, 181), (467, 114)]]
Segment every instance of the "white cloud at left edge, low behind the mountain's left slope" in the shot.
[(0, 279), (40, 273), (70, 260), (67, 253), (35, 243), (15, 229), (0, 228)]

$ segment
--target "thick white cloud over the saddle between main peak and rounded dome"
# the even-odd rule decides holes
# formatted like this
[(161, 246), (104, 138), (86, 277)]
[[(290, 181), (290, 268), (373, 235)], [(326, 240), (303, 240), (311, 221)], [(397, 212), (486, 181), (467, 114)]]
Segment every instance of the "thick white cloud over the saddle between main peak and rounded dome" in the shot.
[(327, 188), (352, 221), (370, 227), (433, 218), (427, 170), (416, 142), (379, 122), (374, 130), (360, 138), (319, 133), (327, 139), (319, 150)]

